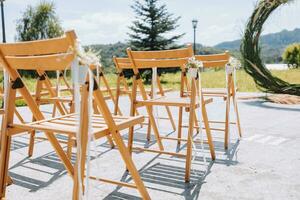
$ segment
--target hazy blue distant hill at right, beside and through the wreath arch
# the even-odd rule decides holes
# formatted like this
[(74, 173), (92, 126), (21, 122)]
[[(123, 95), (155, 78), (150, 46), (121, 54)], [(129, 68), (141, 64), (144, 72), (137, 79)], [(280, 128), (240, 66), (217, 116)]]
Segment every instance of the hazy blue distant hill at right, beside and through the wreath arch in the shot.
[[(286, 46), (300, 42), (300, 28), (293, 31), (283, 30), (278, 33), (271, 33), (261, 36), (262, 57), (266, 62), (280, 62), (281, 55)], [(217, 49), (238, 51), (241, 40), (222, 42), (214, 46)]]

